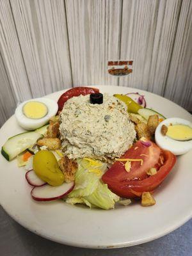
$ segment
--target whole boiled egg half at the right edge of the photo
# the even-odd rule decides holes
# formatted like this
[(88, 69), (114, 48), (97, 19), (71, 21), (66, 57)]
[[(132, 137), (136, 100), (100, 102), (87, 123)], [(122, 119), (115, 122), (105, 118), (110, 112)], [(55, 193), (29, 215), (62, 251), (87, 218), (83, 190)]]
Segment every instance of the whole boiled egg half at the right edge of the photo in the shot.
[(192, 123), (176, 117), (165, 119), (157, 126), (155, 138), (164, 150), (170, 150), (176, 156), (185, 154), (192, 149)]

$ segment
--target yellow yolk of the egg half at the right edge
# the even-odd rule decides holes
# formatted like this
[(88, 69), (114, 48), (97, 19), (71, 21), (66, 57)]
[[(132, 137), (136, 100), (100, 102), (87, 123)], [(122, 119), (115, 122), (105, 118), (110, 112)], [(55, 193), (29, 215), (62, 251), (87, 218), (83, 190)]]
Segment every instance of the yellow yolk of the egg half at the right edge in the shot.
[(169, 125), (166, 135), (173, 140), (186, 141), (192, 139), (192, 128), (188, 125)]

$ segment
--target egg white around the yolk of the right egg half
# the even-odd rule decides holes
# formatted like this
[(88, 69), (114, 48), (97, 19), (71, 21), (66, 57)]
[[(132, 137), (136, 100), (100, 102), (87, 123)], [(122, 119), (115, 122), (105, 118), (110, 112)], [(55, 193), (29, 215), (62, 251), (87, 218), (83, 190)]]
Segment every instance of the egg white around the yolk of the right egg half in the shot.
[(192, 123), (188, 120), (184, 120), (182, 118), (177, 117), (165, 119), (157, 126), (155, 133), (156, 143), (159, 147), (163, 148), (164, 150), (170, 150), (176, 156), (185, 154), (186, 152), (192, 149), (192, 140), (177, 141), (169, 138), (168, 136), (163, 136), (163, 134), (161, 133), (161, 127), (163, 124), (166, 126), (170, 124), (184, 124), (189, 125), (192, 128)]

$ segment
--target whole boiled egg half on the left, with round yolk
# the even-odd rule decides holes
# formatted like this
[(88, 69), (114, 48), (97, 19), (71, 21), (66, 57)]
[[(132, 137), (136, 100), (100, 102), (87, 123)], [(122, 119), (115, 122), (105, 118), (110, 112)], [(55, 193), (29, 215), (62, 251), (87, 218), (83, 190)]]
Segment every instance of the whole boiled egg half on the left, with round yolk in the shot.
[(48, 98), (31, 99), (22, 102), (15, 110), (19, 125), (27, 130), (35, 130), (49, 122), (56, 115), (58, 104)]

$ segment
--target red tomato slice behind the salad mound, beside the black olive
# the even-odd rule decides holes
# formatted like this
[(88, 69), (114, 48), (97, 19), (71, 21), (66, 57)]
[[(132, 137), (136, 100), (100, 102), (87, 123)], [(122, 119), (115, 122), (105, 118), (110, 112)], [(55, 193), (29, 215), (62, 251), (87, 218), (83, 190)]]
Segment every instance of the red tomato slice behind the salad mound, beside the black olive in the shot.
[(63, 106), (65, 102), (72, 98), (72, 97), (77, 97), (79, 95), (88, 95), (91, 93), (98, 93), (99, 89), (97, 88), (90, 88), (90, 87), (75, 87), (67, 92), (64, 92), (61, 96), (60, 99), (58, 99), (58, 111), (61, 111), (63, 109)]

